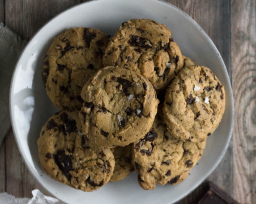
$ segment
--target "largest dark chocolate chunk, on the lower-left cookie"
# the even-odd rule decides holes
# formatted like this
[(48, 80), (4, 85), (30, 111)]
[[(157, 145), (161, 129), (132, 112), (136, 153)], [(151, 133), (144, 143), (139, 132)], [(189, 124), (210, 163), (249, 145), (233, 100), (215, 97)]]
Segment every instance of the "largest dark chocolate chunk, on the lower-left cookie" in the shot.
[(60, 171), (70, 180), (71, 175), (69, 171), (72, 171), (72, 161), (68, 155), (65, 155), (65, 151), (58, 151), (56, 155), (54, 155), (54, 160), (57, 166), (60, 168)]

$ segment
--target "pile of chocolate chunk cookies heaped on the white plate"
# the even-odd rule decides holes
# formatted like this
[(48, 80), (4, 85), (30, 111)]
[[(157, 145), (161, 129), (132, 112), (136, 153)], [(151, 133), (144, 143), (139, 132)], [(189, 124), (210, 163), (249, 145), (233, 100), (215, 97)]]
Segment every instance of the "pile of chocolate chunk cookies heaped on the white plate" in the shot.
[(145, 190), (186, 179), (221, 122), (225, 91), (209, 68), (181, 54), (171, 34), (135, 19), (111, 40), (90, 28), (53, 40), (43, 82), (60, 112), (38, 139), (48, 175), (86, 192), (134, 170)]

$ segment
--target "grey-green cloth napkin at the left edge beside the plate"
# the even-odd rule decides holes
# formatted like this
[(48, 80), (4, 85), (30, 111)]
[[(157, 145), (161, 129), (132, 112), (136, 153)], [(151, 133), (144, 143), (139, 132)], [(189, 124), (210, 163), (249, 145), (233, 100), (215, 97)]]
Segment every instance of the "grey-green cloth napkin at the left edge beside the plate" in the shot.
[(4, 24), (0, 23), (0, 145), (11, 127), (9, 113), (9, 90), (13, 69), (25, 47), (22, 40)]

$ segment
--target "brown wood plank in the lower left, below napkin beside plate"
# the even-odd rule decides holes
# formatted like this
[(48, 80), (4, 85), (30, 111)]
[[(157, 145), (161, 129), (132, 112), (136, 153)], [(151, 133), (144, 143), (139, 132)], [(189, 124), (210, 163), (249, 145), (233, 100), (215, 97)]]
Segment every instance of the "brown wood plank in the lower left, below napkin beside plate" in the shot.
[(50, 194), (42, 188), (27, 169), (18, 150), (13, 131), (6, 141), (6, 192), (16, 197), (32, 197), (31, 191), (38, 188), (45, 195)]

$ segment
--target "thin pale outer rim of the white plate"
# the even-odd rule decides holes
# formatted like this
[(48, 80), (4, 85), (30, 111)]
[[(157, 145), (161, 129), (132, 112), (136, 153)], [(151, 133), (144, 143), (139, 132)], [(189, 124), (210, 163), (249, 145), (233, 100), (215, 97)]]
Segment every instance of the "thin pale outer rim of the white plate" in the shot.
[[(71, 10), (75, 7), (78, 7), (78, 6), (81, 6), (83, 4), (90, 4), (94, 1), (107, 1), (107, 0), (89, 0), (89, 1), (86, 1), (86, 2), (82, 2), (80, 4), (76, 4), (76, 5), (73, 5), (69, 8), (66, 8), (64, 9), (63, 11), (61, 11), (60, 13), (56, 14), (55, 16), (53, 16), (50, 20), (48, 20), (45, 24), (43, 24), (40, 29), (38, 29), (38, 31), (36, 33), (34, 33), (34, 35), (30, 38), (30, 40), (27, 42), (26, 46), (24, 47), (24, 49), (22, 50), (21, 54), (19, 55), (18, 59), (17, 59), (17, 62), (16, 62), (16, 65), (15, 65), (15, 68), (13, 70), (13, 75), (12, 75), (12, 79), (11, 79), (11, 82), (10, 82), (10, 90), (9, 90), (9, 112), (10, 112), (10, 119), (11, 119), (11, 125), (12, 125), (12, 129), (13, 129), (13, 135), (14, 135), (14, 138), (15, 138), (15, 141), (17, 143), (17, 147), (18, 147), (18, 150), (21, 154), (21, 158), (23, 159), (24, 163), (26, 164), (26, 167), (28, 168), (28, 170), (30, 171), (30, 174), (33, 175), (34, 179), (38, 182), (38, 184), (40, 184), (41, 187), (43, 187), (43, 189), (45, 189), (47, 192), (49, 192), (53, 197), (55, 198), (58, 198), (60, 201), (64, 202), (63, 200), (61, 200), (61, 198), (59, 198), (59, 196), (55, 196), (52, 192), (50, 192), (46, 187), (43, 186), (43, 184), (41, 184), (41, 182), (38, 180), (37, 178), (37, 173), (36, 171), (33, 170), (33, 168), (31, 167), (29, 161), (25, 158), (25, 153), (24, 151), (21, 149), (21, 143), (19, 142), (18, 140), (18, 137), (17, 137), (17, 128), (16, 126), (14, 126), (14, 118), (13, 118), (13, 109), (12, 109), (12, 98), (13, 98), (13, 80), (14, 78), (16, 77), (17, 75), (17, 70), (18, 70), (18, 64), (21, 60), (21, 57), (23, 55), (23, 53), (25, 52), (25, 50), (27, 49), (27, 47), (30, 45), (31, 41), (34, 40), (34, 37), (47, 25), (49, 24), (52, 20), (54, 20), (55, 18), (57, 18), (58, 16), (60, 16), (61, 14), (63, 14), (64, 12), (67, 12), (68, 10)], [(119, 0), (119, 1), (122, 1), (122, 0)], [(123, 0), (125, 1), (125, 0)], [(172, 8), (178, 10), (179, 12), (181, 12), (188, 20), (190, 20), (194, 25), (196, 25), (197, 28), (199, 28), (202, 32), (202, 34), (206, 37), (206, 39), (209, 41), (209, 43), (213, 46), (215, 52), (218, 54), (218, 58), (220, 59), (221, 61), (221, 64), (222, 66), (225, 68), (224, 69), (224, 72), (225, 72), (225, 78), (227, 78), (228, 80), (228, 91), (230, 92), (230, 101), (231, 101), (231, 114), (232, 114), (232, 117), (231, 117), (231, 123), (230, 123), (230, 130), (229, 130), (229, 135), (228, 135), (228, 139), (227, 139), (227, 143), (225, 145), (225, 148), (222, 150), (222, 155), (218, 158), (217, 162), (213, 165), (213, 168), (207, 172), (207, 174), (200, 180), (200, 182), (198, 182), (196, 185), (193, 186), (193, 188), (191, 188), (189, 191), (187, 191), (186, 193), (184, 193), (182, 196), (180, 196), (178, 199), (174, 200), (174, 203), (183, 199), (184, 197), (188, 196), (188, 194), (190, 194), (192, 191), (194, 191), (199, 185), (202, 184), (202, 182), (204, 180), (206, 180), (209, 175), (216, 169), (216, 167), (218, 166), (218, 164), (221, 162), (223, 156), (225, 155), (226, 153), (226, 150), (230, 144), (230, 140), (232, 138), (232, 135), (233, 135), (233, 129), (234, 129), (234, 116), (235, 116), (235, 106), (234, 106), (234, 97), (233, 97), (233, 90), (232, 90), (232, 85), (231, 85), (231, 82), (230, 82), (230, 76), (227, 72), (227, 68), (226, 68), (226, 65), (222, 59), (222, 56), (221, 54), (219, 53), (216, 45), (213, 43), (213, 41), (211, 40), (211, 38), (208, 36), (207, 33), (205, 33), (204, 29), (201, 28), (201, 26), (191, 17), (189, 16), (186, 12), (184, 12), (183, 10), (181, 10), (180, 8), (176, 7), (175, 5), (169, 3), (169, 2), (166, 2), (164, 0), (151, 0), (151, 1), (158, 1), (158, 2), (161, 2), (161, 3), (165, 3), (167, 4), (168, 6), (171, 6)]]

